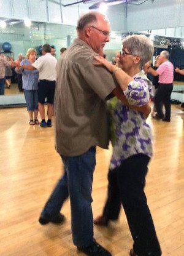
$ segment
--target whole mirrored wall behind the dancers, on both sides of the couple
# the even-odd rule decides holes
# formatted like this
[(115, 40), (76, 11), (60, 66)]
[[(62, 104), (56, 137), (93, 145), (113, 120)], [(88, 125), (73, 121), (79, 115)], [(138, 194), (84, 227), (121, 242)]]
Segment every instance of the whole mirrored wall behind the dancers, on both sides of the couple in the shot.
[[(72, 25), (44, 22), (26, 24), (25, 20), (7, 19), (6, 26), (3, 27), (3, 18), (0, 18), (0, 22), (0, 50), (2, 54), (14, 60), (18, 58), (18, 54), (23, 54), (25, 57), (30, 47), (37, 50), (37, 57), (39, 57), (42, 54), (41, 47), (45, 43), (55, 46), (55, 57), (59, 58), (61, 47), (69, 47), (77, 36), (75, 26)], [(104, 48), (109, 61), (112, 61), (118, 50), (121, 50), (123, 37), (132, 33), (134, 32), (112, 31), (110, 42)], [(167, 49), (171, 52), (174, 65), (184, 68), (184, 27), (136, 33), (144, 33), (153, 40), (155, 55)], [(12, 69), (12, 84), (9, 88), (6, 87), (4, 95), (0, 95), (0, 105), (24, 102), (23, 92), (18, 89), (17, 75)]]

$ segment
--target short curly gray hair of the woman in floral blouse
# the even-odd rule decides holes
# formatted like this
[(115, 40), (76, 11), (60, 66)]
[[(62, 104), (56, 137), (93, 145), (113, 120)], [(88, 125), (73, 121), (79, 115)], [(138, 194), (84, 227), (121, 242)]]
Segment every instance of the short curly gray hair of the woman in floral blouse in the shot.
[(140, 56), (140, 68), (144, 68), (145, 63), (151, 60), (154, 47), (153, 42), (144, 34), (133, 34), (123, 39), (123, 47), (128, 49), (132, 55)]

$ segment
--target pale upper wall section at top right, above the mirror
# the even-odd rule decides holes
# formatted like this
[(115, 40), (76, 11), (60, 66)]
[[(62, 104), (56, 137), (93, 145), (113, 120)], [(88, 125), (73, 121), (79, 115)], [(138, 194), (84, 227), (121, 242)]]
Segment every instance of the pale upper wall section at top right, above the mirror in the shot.
[(140, 6), (128, 5), (127, 30), (157, 30), (184, 26), (183, 0), (147, 1)]

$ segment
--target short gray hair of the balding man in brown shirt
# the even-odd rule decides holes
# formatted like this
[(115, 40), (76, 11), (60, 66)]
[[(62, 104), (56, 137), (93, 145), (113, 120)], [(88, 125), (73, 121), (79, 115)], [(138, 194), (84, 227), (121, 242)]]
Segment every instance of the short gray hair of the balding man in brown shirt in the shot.
[(77, 31), (83, 30), (86, 25), (89, 23), (97, 22), (97, 15), (99, 12), (88, 12), (87, 14), (83, 15), (79, 18), (77, 22)]

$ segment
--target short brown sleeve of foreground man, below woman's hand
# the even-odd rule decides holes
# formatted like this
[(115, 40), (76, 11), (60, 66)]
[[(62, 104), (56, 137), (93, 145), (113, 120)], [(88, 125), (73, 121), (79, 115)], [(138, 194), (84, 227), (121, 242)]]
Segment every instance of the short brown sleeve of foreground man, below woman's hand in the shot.
[(93, 57), (87, 65), (79, 65), (80, 73), (96, 94), (105, 100), (117, 86), (117, 81), (104, 66), (95, 66)]

